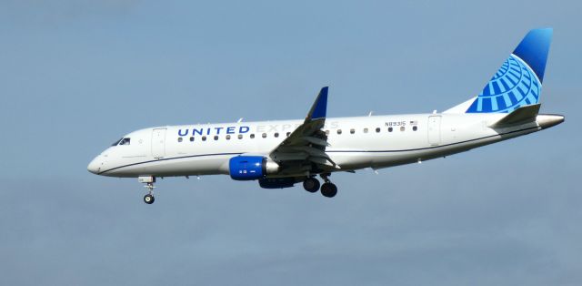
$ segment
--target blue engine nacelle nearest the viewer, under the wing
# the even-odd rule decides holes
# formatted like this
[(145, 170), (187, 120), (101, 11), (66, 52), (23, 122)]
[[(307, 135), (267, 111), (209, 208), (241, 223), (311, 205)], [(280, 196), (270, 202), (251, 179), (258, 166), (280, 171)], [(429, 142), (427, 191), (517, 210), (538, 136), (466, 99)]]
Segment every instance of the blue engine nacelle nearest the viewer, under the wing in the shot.
[(276, 162), (262, 156), (236, 156), (228, 161), (230, 178), (236, 180), (263, 179), (278, 170)]

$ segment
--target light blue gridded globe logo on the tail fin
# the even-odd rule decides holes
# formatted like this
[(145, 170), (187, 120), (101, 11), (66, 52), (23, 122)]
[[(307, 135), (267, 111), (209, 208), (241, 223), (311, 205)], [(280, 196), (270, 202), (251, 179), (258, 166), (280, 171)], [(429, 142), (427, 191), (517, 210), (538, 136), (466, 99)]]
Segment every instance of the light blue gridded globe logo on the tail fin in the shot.
[(536, 74), (518, 56), (511, 55), (483, 88), (467, 113), (511, 112), (536, 104), (541, 84)]

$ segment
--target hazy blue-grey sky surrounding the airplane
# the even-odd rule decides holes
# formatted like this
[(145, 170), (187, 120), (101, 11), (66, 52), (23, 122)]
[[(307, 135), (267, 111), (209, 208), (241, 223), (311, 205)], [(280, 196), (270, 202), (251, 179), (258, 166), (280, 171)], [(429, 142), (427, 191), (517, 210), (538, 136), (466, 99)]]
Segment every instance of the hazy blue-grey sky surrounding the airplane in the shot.
[[(580, 1), (0, 1), (0, 284), (579, 285)], [(336, 174), (335, 199), (86, 171), (137, 128), (431, 112), (554, 27), (549, 130)]]

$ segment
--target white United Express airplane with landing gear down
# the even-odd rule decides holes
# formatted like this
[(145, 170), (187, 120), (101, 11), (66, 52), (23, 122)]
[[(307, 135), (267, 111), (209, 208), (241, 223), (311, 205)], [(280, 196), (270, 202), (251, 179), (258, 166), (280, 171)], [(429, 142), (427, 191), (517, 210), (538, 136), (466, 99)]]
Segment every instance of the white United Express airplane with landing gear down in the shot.
[(137, 178), (146, 204), (155, 201), (156, 178), (217, 174), (258, 180), (266, 189), (302, 183), (333, 198), (332, 173), (444, 158), (564, 122), (539, 114), (552, 34), (529, 31), (477, 97), (441, 113), (328, 118), (323, 87), (303, 120), (144, 128), (115, 141), (87, 169)]

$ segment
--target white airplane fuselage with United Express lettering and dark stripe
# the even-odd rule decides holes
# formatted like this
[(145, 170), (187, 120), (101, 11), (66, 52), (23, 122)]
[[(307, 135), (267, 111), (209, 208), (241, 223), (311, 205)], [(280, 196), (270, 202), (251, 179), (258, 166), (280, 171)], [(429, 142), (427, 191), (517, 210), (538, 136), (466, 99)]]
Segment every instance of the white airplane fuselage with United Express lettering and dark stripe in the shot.
[[(467, 151), (564, 120), (561, 116), (538, 115), (537, 121), (511, 128), (488, 127), (504, 116), (328, 117), (323, 128), (328, 134), (326, 153), (339, 166), (336, 171), (380, 169)], [(228, 174), (230, 158), (241, 154), (268, 157), (302, 123), (279, 120), (145, 128), (127, 134), (124, 138), (129, 138), (128, 144), (105, 149), (88, 169), (111, 177)]]

